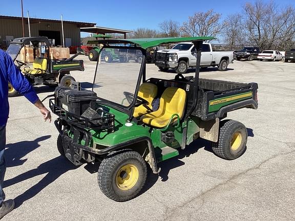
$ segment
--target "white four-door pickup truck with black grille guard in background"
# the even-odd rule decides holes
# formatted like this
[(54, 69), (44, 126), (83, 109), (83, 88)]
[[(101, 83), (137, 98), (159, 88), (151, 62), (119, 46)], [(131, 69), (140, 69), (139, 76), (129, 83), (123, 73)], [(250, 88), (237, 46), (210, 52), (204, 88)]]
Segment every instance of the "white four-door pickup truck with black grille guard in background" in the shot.
[[(155, 64), (160, 71), (174, 69), (178, 74), (185, 74), (188, 68), (196, 67), (196, 49), (192, 42), (178, 43), (172, 49), (157, 51)], [(233, 52), (214, 52), (210, 43), (203, 43), (201, 68), (218, 67), (219, 71), (227, 70), (233, 63)]]

